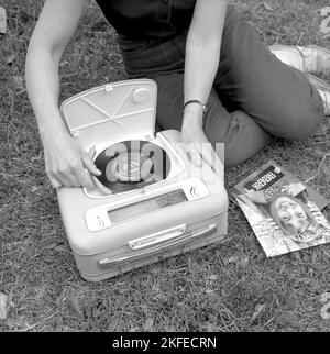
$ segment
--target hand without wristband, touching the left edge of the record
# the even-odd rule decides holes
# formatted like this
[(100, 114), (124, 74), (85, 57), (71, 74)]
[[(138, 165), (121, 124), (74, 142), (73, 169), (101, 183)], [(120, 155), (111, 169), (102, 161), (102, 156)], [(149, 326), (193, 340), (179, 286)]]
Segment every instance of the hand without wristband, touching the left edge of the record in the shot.
[(54, 188), (95, 187), (91, 175), (101, 175), (92, 163), (95, 151), (85, 152), (67, 132), (44, 137), (43, 145), (46, 174)]

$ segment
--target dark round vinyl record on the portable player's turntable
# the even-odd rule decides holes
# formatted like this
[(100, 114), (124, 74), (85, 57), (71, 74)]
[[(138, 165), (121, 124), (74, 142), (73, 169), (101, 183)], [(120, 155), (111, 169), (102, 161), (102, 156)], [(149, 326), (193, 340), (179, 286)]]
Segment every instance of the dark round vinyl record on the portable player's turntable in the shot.
[(168, 176), (170, 159), (151, 142), (124, 141), (103, 150), (95, 159), (97, 178), (113, 193), (140, 189)]

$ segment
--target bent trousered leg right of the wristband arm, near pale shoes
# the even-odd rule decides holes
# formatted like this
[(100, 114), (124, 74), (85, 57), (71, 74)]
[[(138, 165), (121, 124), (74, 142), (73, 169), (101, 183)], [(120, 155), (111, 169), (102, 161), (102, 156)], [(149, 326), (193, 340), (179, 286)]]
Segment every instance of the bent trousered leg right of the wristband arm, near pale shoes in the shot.
[(254, 29), (231, 9), (215, 87), (272, 135), (299, 140), (314, 133), (324, 110), (306, 76), (283, 64)]

